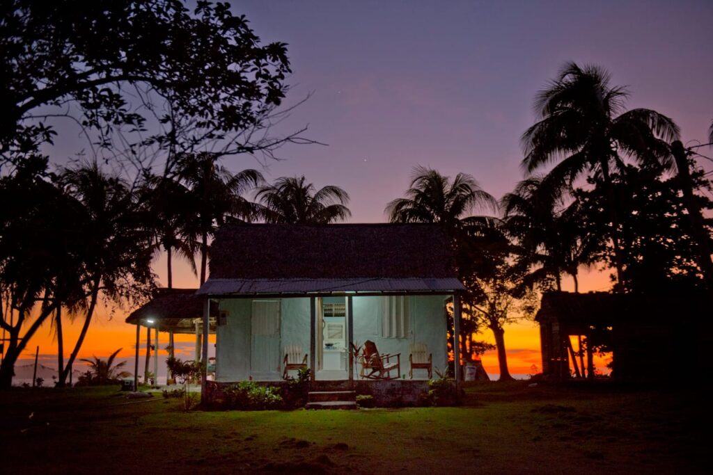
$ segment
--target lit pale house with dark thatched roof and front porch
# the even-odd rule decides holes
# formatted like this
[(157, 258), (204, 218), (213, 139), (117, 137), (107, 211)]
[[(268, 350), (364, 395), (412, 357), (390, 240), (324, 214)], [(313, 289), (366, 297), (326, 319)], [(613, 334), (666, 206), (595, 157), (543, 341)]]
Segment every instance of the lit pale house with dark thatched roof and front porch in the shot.
[[(210, 278), (193, 297), (202, 298), (202, 320), (187, 304), (190, 315), (173, 321), (175, 330), (202, 333), (203, 360), (215, 328), (211, 386), (280, 381), (286, 348), (299, 348), (313, 386), (353, 388), (364, 378), (349, 348), (366, 340), (380, 353), (400, 354), (391, 378), (408, 377), (414, 343), (426, 345), (434, 369), (446, 370), (446, 304), (458, 316), (457, 334), (464, 288), (439, 226), (230, 224), (217, 232), (209, 253)], [(164, 298), (175, 307), (177, 295)], [(413, 377), (425, 381), (428, 371), (416, 369)]]

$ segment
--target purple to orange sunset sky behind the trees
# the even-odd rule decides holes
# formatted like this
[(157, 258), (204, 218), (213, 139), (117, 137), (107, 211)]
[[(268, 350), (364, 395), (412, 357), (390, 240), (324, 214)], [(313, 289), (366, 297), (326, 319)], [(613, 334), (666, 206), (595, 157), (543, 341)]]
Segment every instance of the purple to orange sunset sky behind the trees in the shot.
[[(472, 174), (499, 198), (523, 178), (520, 135), (535, 120), (533, 98), (565, 61), (596, 64), (630, 90), (627, 108), (674, 119), (684, 144), (704, 142), (713, 120), (713, 2), (710, 1), (232, 1), (264, 43), (288, 43), (293, 73), (286, 104), (310, 95), (273, 133), (308, 126), (326, 145), (289, 145), (263, 169), (267, 179), (304, 174), (351, 197), (349, 222), (385, 221), (416, 165)], [(86, 148), (58, 137), (56, 160)], [(713, 149), (700, 153), (713, 157)], [(705, 169), (713, 162), (699, 159)], [(233, 157), (237, 171), (258, 167)], [(198, 279), (177, 263), (174, 286)], [(165, 260), (155, 271), (165, 285)], [(608, 288), (608, 273), (583, 270), (582, 291)], [(80, 323), (66, 335), (72, 343)], [(53, 364), (42, 328), (35, 345)], [(483, 335), (491, 339), (491, 335)], [(133, 354), (134, 327), (117, 311), (93, 322), (81, 356)], [(163, 343), (161, 344), (163, 348)], [(511, 372), (541, 367), (538, 331), (506, 329)], [(51, 359), (50, 359), (51, 358)], [(483, 357), (497, 373), (494, 352)], [(133, 367), (133, 360), (129, 361)]]

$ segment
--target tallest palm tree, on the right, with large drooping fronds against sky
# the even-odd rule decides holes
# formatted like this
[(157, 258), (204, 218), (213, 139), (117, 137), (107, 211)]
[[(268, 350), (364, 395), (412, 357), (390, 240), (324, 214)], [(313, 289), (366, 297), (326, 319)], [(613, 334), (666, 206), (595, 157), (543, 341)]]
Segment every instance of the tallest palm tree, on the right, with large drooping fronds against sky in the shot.
[(627, 90), (610, 85), (610, 74), (597, 66), (566, 63), (535, 100), (541, 117), (522, 137), (523, 167), (531, 173), (558, 162), (543, 185), (564, 189), (584, 174), (598, 174), (607, 189), (612, 223), (609, 238), (621, 282), (622, 256), (616, 198), (610, 172), (623, 169), (631, 157), (643, 167), (672, 165), (668, 142), (677, 139), (677, 125), (650, 109), (624, 111)]

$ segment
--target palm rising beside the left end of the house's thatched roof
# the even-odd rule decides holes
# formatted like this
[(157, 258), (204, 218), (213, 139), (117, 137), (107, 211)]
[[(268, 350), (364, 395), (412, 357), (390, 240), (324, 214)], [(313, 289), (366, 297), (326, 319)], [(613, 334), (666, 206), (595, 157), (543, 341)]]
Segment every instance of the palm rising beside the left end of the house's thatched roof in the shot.
[(195, 229), (200, 249), (200, 284), (205, 283), (208, 239), (229, 216), (252, 219), (255, 207), (242, 194), (265, 181), (254, 169), (237, 174), (217, 164), (212, 154), (185, 154), (178, 159), (178, 177), (189, 190), (196, 210)]

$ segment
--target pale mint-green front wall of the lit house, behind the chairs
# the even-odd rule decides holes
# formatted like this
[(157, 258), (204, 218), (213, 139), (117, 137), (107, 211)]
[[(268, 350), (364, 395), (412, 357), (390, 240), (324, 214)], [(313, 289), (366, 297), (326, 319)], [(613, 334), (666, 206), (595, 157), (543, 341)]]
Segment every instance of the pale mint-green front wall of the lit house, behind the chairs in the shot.
[[(401, 353), (401, 375), (409, 374), (409, 345), (423, 342), (433, 354), (434, 369), (446, 369), (446, 317), (444, 296), (407, 296), (411, 315), (408, 338), (381, 336), (381, 318), (384, 313), (383, 297), (354, 297), (354, 341), (376, 343), (380, 353)], [(227, 313), (225, 325), (218, 325), (216, 333), (217, 381), (241, 381), (252, 376), (256, 380), (273, 380), (282, 373), (252, 374), (251, 313), (252, 299), (226, 298), (220, 301), (220, 310)], [(309, 353), (309, 298), (283, 298), (280, 301), (280, 343), (299, 345)], [(282, 363), (282, 357), (280, 357)], [(357, 375), (355, 374), (355, 377)], [(414, 379), (425, 379), (426, 370), (416, 370)]]

